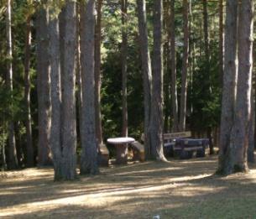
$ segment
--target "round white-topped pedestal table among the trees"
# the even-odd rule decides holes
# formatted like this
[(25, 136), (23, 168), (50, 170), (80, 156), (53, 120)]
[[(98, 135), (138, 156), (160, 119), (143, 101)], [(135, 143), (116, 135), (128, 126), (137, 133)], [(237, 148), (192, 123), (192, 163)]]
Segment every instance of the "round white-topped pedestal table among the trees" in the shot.
[(135, 142), (134, 138), (130, 137), (119, 137), (119, 138), (108, 138), (107, 143), (111, 143), (115, 146), (117, 151), (117, 164), (127, 164), (128, 160), (128, 143)]

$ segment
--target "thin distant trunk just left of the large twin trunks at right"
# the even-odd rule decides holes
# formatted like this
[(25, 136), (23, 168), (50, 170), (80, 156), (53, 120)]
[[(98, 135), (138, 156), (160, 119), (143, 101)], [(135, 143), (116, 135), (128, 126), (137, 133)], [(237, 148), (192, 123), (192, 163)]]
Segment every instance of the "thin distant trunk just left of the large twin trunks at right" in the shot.
[(219, 66), (220, 66), (220, 79), (222, 84), (223, 71), (224, 71), (224, 25), (223, 25), (223, 0), (219, 0)]

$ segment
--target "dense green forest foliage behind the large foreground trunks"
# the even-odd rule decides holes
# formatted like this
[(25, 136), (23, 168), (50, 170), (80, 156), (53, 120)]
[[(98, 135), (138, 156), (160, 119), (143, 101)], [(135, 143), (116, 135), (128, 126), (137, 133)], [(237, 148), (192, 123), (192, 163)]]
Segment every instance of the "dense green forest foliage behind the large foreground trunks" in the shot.
[[(45, 51), (44, 44), (47, 44), (47, 41), (50, 40), (49, 38), (43, 39), (44, 42), (39, 43), (45, 33), (50, 33), (49, 23), (47, 23), (49, 21), (44, 20), (42, 14), (45, 13), (49, 6), (50, 10), (54, 10), (54, 13), (50, 15), (53, 17), (49, 17), (49, 19), (55, 19), (56, 16), (59, 17), (61, 27), (63, 25), (61, 24), (63, 8), (69, 6), (62, 1), (49, 3), (47, 1), (32, 0), (9, 1), (12, 12), (10, 23), (12, 55), (10, 56), (8, 55), (9, 46), (7, 44), (8, 7), (6, 2), (8, 1), (2, 1), (0, 8), (0, 147), (2, 155), (0, 164), (4, 167), (6, 163), (12, 169), (13, 167), (39, 164), (40, 162), (40, 158), (37, 155), (40, 149), (38, 146), (40, 144), (39, 129), (42, 125), (39, 123), (39, 106), (44, 104), (45, 96), (44, 93), (39, 93), (39, 91), (43, 91), (46, 88), (45, 86), (50, 86), (47, 83), (44, 84), (44, 79), (39, 78), (40, 74), (44, 74), (40, 70), (45, 67), (44, 64), (50, 57), (49, 55), (45, 56), (45, 54), (41, 55), (42, 59), (45, 60), (41, 60), (42, 62), (39, 64), (39, 53), (43, 50)], [(70, 2), (72, 1), (68, 1), (68, 4)], [(74, 31), (81, 31), (81, 33), (83, 31), (81, 29), (82, 5), (83, 3), (77, 1), (76, 21), (74, 21), (76, 23), (76, 30)], [(223, 34), (226, 18), (225, 10), (226, 3), (222, 0), (163, 1), (161, 42), (163, 45), (162, 61), (164, 73), (164, 133), (191, 130), (194, 137), (209, 138), (211, 146), (218, 146), (224, 68)], [(97, 27), (100, 27), (100, 31), (95, 34), (95, 39), (91, 42), (95, 41), (95, 44), (100, 42), (101, 48), (101, 59), (96, 60), (95, 66), (99, 62), (101, 63), (100, 112), (102, 142), (106, 143), (107, 138), (110, 137), (125, 135), (123, 131), (125, 129), (123, 128), (123, 125), (125, 125), (125, 119), (123, 120), (123, 106), (125, 106), (123, 105), (123, 94), (125, 93), (123, 92), (125, 91), (123, 86), (125, 84), (123, 85), (123, 80), (127, 80), (128, 136), (139, 139), (141, 134), (144, 133), (144, 81), (142, 55), (139, 48), (141, 43), (138, 33), (137, 3), (135, 0), (98, 0), (96, 1), (95, 11), (97, 11), (94, 17), (96, 23), (95, 31), (97, 31)], [(154, 53), (154, 12), (154, 1), (147, 1), (148, 40), (151, 56)], [(86, 14), (90, 13), (86, 12)], [(31, 44), (29, 40), (30, 33)], [(101, 35), (100, 38), (98, 38), (99, 33)], [(65, 35), (65, 37), (67, 36)], [(81, 46), (79, 45), (79, 39), (77, 39), (77, 42), (76, 48), (80, 47), (80, 50), (83, 50), (82, 44)], [(124, 44), (124, 42), (126, 43)], [(187, 50), (186, 56), (185, 50)], [(65, 53), (61, 49), (60, 52)], [(97, 53), (95, 52), (95, 54)], [(77, 76), (75, 89), (76, 128), (78, 133), (77, 153), (82, 154), (79, 135), (82, 127), (81, 123), (79, 123), (81, 116), (79, 110), (81, 107), (79, 76), (82, 74), (82, 70), (77, 73), (80, 69), (77, 66), (82, 64), (79, 63), (79, 58), (77, 58), (80, 57), (79, 55), (78, 51), (73, 62), (76, 65)], [(174, 59), (172, 55), (175, 55)], [(187, 60), (184, 60), (185, 57), (187, 57)], [(10, 63), (13, 68), (12, 89), (10, 89), (10, 84), (8, 83)], [(125, 69), (127, 69), (127, 77), (123, 77), (123, 70)], [(176, 72), (175, 86), (178, 106), (176, 106), (178, 108), (178, 114), (176, 115), (173, 108), (175, 97), (172, 95), (174, 70)], [(182, 84), (184, 84), (182, 81), (184, 80), (185, 71), (186, 81), (184, 88), (182, 87)], [(44, 89), (42, 90), (41, 87)], [(187, 91), (186, 106), (181, 104), (181, 102), (184, 102), (182, 98), (183, 89)], [(28, 98), (30, 98), (29, 102)], [(182, 109), (182, 112), (180, 109)], [(185, 112), (185, 128), (175, 128), (175, 119), (176, 117), (181, 118), (183, 112)], [(31, 119), (30, 116), (28, 117), (28, 113), (31, 115)], [(10, 123), (13, 123), (13, 134), (16, 141), (14, 147), (17, 151), (15, 156), (17, 156), (18, 164), (11, 164), (13, 162), (11, 160), (13, 159), (12, 156), (6, 156), (6, 158), (4, 156), (5, 154), (10, 154), (10, 149), (12, 149), (8, 147), (10, 143), (10, 135), (8, 134), (10, 132)], [(26, 128), (28, 123), (31, 123), (31, 138), (28, 137), (28, 127)], [(31, 141), (32, 152), (29, 152), (29, 141)], [(46, 142), (47, 139), (44, 138), (41, 141)], [(107, 145), (107, 147), (110, 149), (112, 156), (114, 151), (111, 149), (111, 145)], [(28, 156), (33, 156), (32, 161), (29, 158), (30, 163)], [(46, 163), (43, 162), (42, 164)]]

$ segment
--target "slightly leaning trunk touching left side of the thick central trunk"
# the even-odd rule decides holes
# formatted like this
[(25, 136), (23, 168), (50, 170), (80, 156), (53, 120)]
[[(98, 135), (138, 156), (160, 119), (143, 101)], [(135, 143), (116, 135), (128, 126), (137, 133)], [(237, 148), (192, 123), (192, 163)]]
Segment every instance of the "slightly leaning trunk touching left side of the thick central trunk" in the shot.
[(138, 6), (138, 33), (139, 46), (142, 60), (143, 80), (144, 80), (144, 150), (145, 158), (149, 159), (151, 154), (151, 137), (149, 120), (151, 115), (151, 96), (152, 96), (152, 70), (149, 55), (149, 38), (147, 29), (147, 13), (145, 0), (137, 0)]

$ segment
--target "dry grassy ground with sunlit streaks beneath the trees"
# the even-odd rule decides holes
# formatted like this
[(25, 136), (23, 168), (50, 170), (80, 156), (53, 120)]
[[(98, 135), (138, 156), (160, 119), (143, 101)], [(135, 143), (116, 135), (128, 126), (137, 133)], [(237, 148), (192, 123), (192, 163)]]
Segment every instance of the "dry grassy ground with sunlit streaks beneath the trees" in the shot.
[(217, 157), (145, 162), (54, 182), (52, 169), (0, 174), (0, 218), (256, 218), (256, 165), (213, 175)]

